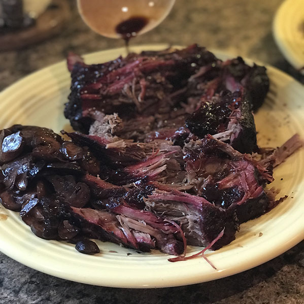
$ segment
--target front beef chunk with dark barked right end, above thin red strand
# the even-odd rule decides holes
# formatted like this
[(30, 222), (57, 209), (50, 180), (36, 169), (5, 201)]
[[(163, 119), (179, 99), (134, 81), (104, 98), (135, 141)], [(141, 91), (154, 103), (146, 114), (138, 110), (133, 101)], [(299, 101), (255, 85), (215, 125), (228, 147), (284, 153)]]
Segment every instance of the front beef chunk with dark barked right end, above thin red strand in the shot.
[(212, 250), (235, 239), (238, 223), (234, 212), (225, 212), (202, 197), (180, 191), (156, 190), (145, 199), (145, 204), (159, 217), (177, 222), (185, 233), (188, 245), (206, 247), (223, 229), (223, 237), (213, 245)]

